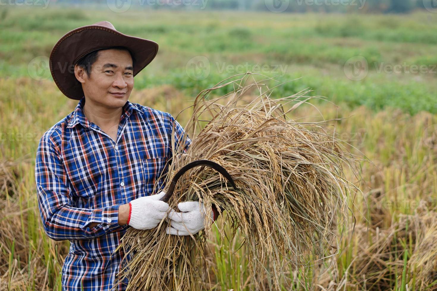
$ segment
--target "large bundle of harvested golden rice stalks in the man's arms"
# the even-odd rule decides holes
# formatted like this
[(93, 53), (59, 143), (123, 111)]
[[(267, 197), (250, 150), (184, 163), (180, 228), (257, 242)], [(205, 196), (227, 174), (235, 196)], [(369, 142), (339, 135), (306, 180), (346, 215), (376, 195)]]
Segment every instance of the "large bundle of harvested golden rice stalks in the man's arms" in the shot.
[[(304, 264), (308, 253), (314, 260), (323, 258), (337, 228), (348, 229), (348, 197), (357, 188), (345, 178), (342, 165), (353, 169), (354, 158), (327, 134), (325, 123), (287, 117), (308, 103), (308, 91), (272, 99), (264, 80), (256, 82), (253, 76), (225, 79), (196, 97), (185, 126), (191, 147), (187, 153), (174, 149), (164, 190), (192, 161), (209, 160), (225, 168), (236, 188), (212, 168), (195, 167), (180, 177), (168, 203), (176, 209), (178, 202), (201, 200), (207, 209), (215, 204), (226, 211), (219, 229), (228, 225), (234, 235), (240, 230), (253, 286), (258, 288), (267, 273), (278, 290), (284, 264)], [(255, 82), (246, 84), (250, 77)], [(209, 99), (210, 92), (229, 85), (235, 89)], [(253, 89), (258, 96), (247, 98)], [(285, 110), (290, 103), (295, 104)], [(203, 257), (211, 223), (194, 236), (167, 235), (165, 220), (156, 229), (129, 229), (119, 247), (129, 258), (120, 280), (129, 277), (128, 290), (207, 289), (206, 282), (214, 283)]]

